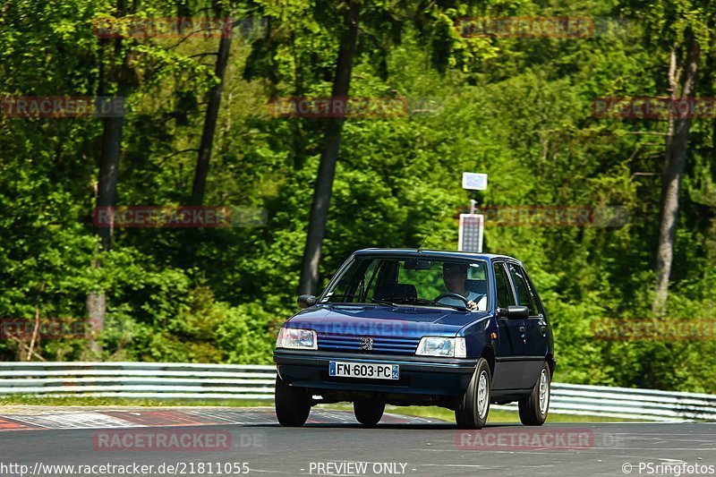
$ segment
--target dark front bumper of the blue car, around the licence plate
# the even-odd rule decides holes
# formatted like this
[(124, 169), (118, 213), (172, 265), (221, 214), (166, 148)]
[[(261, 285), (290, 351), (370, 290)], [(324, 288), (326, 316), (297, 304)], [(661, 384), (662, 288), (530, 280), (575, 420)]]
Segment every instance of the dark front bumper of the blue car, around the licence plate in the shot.
[[(355, 379), (328, 376), (328, 362), (374, 362), (400, 366), (400, 379)], [(388, 394), (462, 396), (473, 378), (476, 359), (431, 356), (337, 353), (314, 350), (274, 352), (278, 375), (299, 388), (366, 391)]]

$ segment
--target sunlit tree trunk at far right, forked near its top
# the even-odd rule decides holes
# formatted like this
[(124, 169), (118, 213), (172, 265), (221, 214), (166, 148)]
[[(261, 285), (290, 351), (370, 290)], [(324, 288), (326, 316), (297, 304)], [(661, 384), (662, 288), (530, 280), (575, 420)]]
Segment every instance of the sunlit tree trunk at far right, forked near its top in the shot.
[[(669, 89), (672, 100), (689, 98), (693, 93), (700, 53), (698, 42), (693, 37), (689, 38), (686, 47), (686, 64), (677, 67), (676, 50), (676, 46), (671, 50), (669, 65)], [(678, 73), (682, 69), (685, 72), (683, 82), (680, 78), (681, 74)], [(690, 125), (689, 117), (669, 115), (666, 160), (661, 190), (661, 226), (656, 254), (656, 293), (652, 304), (652, 312), (655, 316), (663, 315), (669, 297), (669, 277), (678, 219), (678, 193), (686, 166)]]

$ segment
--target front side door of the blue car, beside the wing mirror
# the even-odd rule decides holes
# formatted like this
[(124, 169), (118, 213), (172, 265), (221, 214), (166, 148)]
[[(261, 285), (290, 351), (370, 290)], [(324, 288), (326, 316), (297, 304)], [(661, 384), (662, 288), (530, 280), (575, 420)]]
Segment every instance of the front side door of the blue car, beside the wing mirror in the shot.
[[(493, 300), (498, 308), (516, 304), (515, 292), (507, 274), (504, 261), (493, 261), (492, 272), (495, 286)], [(492, 388), (524, 388), (524, 354), (526, 329), (524, 319), (498, 317), (498, 349), (495, 350), (495, 376)]]

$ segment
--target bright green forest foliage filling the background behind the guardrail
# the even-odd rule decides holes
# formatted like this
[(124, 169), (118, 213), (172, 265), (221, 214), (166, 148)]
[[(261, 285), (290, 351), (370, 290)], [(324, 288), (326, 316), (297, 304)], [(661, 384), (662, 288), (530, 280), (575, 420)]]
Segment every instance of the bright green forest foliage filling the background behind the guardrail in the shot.
[[(558, 380), (716, 392), (716, 345), (606, 342), (594, 319), (648, 319), (660, 223), (663, 122), (596, 119), (592, 100), (667, 94), (669, 48), (703, 41), (698, 91), (713, 96), (713, 12), (696, 4), (362, 2), (351, 95), (406, 98), (409, 114), (345, 123), (320, 265), (325, 285), (363, 247), (455, 249), (456, 212), (481, 206), (623, 207), (618, 227), (488, 226), (487, 251), (523, 260), (554, 325)], [(192, 12), (209, 6), (192, 4)], [(0, 96), (91, 96), (112, 41), (92, 20), (115, 5), (0, 6)], [(224, 3), (267, 19), (234, 35), (206, 204), (265, 209), (263, 226), (117, 228), (98, 253), (91, 214), (97, 118), (0, 115), (0, 317), (81, 322), (107, 295), (103, 352), (81, 337), (40, 339), (46, 359), (269, 363), (294, 311), (325, 124), (268, 114), (268, 100), (328, 96), (345, 2)], [(218, 7), (217, 7), (218, 8)], [(150, 1), (141, 18), (176, 15)], [(626, 20), (588, 38), (461, 38), (464, 16)], [(711, 28), (709, 26), (711, 25)], [(190, 197), (218, 38), (126, 38), (129, 113), (118, 204)], [(113, 91), (110, 91), (113, 92)], [(713, 119), (695, 120), (681, 196), (669, 318), (716, 316)], [(465, 192), (463, 171), (490, 175)], [(437, 218), (437, 220), (436, 220)], [(95, 262), (97, 267), (93, 266)], [(30, 339), (0, 339), (25, 359)]]

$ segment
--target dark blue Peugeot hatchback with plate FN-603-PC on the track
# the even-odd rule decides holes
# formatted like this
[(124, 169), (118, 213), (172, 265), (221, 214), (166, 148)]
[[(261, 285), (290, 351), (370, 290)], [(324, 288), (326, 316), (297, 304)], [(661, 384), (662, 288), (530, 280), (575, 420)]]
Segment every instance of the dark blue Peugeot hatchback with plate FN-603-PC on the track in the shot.
[(480, 429), (516, 401), (541, 425), (555, 369), (552, 331), (522, 263), (503, 255), (354, 252), (277, 336), (276, 414), (302, 426), (311, 406), (353, 402), (373, 426), (386, 405), (439, 405)]

